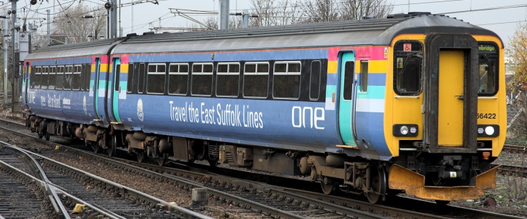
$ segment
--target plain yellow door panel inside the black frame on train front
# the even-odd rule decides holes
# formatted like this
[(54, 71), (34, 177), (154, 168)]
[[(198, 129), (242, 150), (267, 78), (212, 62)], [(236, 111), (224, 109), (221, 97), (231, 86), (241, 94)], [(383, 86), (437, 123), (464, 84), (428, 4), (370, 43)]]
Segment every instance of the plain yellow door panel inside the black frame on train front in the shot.
[(465, 53), (439, 52), (438, 145), (463, 146), (463, 85)]

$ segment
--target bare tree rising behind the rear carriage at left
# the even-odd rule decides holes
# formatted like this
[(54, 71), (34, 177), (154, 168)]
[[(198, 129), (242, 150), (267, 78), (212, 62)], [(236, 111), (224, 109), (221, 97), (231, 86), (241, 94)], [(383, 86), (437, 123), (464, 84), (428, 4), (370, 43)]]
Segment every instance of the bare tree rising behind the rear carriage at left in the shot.
[[(89, 8), (78, 4), (68, 8), (55, 17), (52, 25), (52, 36), (60, 37), (64, 42), (86, 42), (106, 35), (106, 10)], [(90, 18), (88, 18), (90, 17)]]

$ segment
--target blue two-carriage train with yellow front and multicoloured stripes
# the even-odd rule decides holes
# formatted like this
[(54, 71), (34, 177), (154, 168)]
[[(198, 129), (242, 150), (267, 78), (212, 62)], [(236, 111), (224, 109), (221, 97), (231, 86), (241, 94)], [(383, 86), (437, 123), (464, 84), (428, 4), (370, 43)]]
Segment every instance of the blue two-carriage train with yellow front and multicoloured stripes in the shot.
[(39, 137), (110, 156), (306, 176), (372, 203), (449, 202), (496, 187), (503, 57), (496, 33), (429, 12), (134, 33), (33, 51), (22, 105)]

